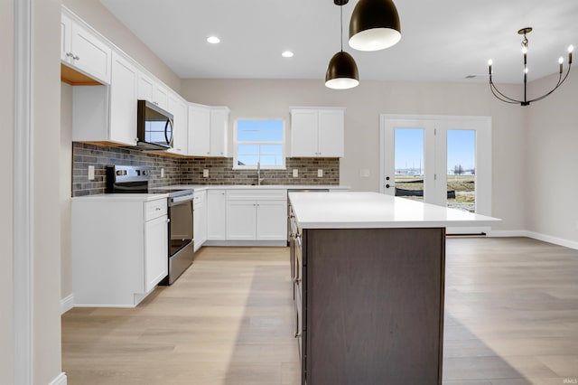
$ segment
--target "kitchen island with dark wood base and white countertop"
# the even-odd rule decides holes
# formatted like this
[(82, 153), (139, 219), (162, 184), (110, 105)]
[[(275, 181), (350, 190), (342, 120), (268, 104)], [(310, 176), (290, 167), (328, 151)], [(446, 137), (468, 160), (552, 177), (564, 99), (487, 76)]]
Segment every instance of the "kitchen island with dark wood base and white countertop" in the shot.
[(289, 200), (302, 384), (442, 384), (445, 228), (499, 220), (377, 192)]

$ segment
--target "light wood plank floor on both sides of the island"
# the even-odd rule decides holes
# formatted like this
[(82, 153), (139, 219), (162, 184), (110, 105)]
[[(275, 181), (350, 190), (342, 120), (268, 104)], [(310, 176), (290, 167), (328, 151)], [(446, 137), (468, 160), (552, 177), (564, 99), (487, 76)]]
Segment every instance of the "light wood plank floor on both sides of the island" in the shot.
[[(577, 250), (460, 238), (446, 254), (444, 384), (578, 383)], [(74, 308), (68, 383), (297, 384), (289, 275), (285, 248), (203, 248), (135, 309)]]

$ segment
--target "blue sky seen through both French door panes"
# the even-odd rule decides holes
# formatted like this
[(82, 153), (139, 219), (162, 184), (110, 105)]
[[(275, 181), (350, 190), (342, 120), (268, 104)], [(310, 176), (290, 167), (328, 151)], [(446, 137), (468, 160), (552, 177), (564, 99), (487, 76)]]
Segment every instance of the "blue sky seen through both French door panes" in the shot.
[[(396, 174), (424, 173), (424, 130), (422, 128), (396, 128)], [(474, 130), (447, 131), (447, 169), (453, 174), (461, 165), (465, 174), (475, 172), (476, 132)]]

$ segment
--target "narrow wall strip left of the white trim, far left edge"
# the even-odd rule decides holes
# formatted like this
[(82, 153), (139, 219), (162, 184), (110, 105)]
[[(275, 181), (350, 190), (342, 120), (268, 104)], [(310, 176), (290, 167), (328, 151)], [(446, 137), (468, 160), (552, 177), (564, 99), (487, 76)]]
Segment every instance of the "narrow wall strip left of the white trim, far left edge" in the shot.
[(0, 383), (14, 383), (14, 2), (0, 3)]

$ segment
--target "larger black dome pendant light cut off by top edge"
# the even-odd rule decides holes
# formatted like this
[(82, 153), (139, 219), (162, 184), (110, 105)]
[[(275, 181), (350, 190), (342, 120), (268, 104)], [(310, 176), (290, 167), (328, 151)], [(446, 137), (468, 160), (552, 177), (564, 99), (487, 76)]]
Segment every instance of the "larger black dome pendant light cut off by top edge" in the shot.
[(350, 47), (379, 51), (401, 39), (401, 25), (392, 0), (359, 0), (350, 20)]

